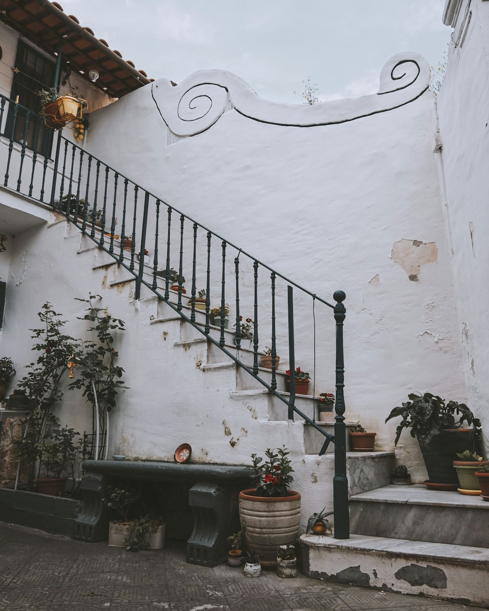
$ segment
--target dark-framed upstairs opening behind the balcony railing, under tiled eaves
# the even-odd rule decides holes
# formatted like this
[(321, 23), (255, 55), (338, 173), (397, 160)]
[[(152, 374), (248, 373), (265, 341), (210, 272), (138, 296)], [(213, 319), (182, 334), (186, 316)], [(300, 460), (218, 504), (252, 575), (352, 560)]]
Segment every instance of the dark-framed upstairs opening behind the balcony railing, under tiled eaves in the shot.
[[(53, 87), (56, 66), (54, 61), (20, 40), (15, 68), (18, 72), (13, 73), (10, 98), (15, 100), (18, 96), (19, 104), (23, 108), (19, 107), (17, 117), (15, 117), (13, 104), (10, 104), (3, 135), (20, 144), (25, 142), (26, 147), (48, 157), (53, 145), (53, 130), (46, 128), (42, 117), (37, 116), (40, 111), (37, 92)], [(28, 115), (26, 109), (36, 114)]]

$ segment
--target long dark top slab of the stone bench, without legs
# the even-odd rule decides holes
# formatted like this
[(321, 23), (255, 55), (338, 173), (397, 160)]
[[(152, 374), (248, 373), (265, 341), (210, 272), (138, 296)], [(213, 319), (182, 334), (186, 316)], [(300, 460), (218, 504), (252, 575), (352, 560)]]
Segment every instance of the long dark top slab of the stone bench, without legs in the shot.
[(243, 483), (254, 476), (254, 468), (230, 464), (188, 463), (177, 464), (167, 461), (114, 461), (86, 460), (86, 473), (95, 472), (115, 477), (131, 477), (142, 480), (185, 480), (218, 481)]

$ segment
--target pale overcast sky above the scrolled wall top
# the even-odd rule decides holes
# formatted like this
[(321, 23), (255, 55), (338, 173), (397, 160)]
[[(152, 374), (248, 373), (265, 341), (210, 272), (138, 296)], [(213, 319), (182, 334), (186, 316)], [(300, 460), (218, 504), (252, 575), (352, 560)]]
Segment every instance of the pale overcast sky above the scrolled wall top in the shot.
[(181, 82), (224, 68), (268, 100), (374, 93), (384, 63), (416, 51), (438, 67), (451, 29), (445, 0), (60, 0), (150, 78)]

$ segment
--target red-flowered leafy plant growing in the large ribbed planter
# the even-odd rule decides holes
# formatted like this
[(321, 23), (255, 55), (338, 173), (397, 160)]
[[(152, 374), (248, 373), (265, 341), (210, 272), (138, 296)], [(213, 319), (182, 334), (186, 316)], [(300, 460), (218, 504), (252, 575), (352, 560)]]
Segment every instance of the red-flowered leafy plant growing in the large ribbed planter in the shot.
[(287, 487), (293, 481), (292, 461), (288, 458), (289, 452), (285, 446), (277, 448), (276, 451), (267, 448), (265, 456), (268, 461), (262, 464), (261, 456), (251, 455), (257, 477), (256, 496), (287, 496)]

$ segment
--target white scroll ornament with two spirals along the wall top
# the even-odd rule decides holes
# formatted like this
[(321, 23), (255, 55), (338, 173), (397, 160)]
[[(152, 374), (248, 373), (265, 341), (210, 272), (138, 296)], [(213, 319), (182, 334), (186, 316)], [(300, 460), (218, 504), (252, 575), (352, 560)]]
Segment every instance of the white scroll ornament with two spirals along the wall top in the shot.
[(176, 87), (167, 79), (152, 83), (152, 96), (169, 129), (178, 136), (208, 130), (222, 113), (235, 109), (262, 123), (312, 127), (345, 123), (408, 104), (428, 89), (430, 66), (418, 53), (397, 53), (380, 72), (377, 93), (318, 104), (279, 104), (263, 100), (226, 70), (200, 70)]

